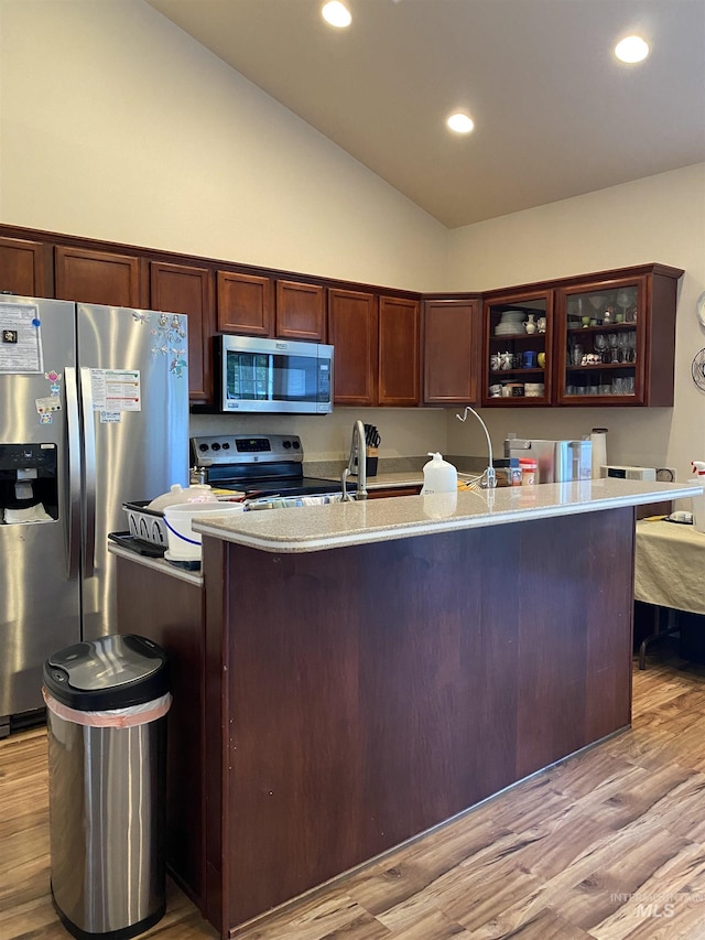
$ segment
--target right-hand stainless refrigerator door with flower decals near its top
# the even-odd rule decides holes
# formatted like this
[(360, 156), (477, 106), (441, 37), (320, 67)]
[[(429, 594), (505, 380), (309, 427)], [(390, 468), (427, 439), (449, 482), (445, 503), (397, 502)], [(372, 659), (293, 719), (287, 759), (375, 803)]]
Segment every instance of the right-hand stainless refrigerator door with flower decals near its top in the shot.
[(123, 503), (188, 485), (187, 320), (78, 304), (84, 437), (84, 639), (117, 633), (108, 532)]

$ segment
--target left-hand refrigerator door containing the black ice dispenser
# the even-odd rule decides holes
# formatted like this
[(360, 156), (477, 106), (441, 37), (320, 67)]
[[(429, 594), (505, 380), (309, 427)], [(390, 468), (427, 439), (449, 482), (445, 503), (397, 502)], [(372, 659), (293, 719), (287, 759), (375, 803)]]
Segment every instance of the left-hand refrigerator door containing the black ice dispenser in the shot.
[[(44, 660), (80, 639), (80, 582), (77, 566), (72, 572), (69, 563), (69, 423), (76, 445), (78, 415), (70, 412), (67, 379), (76, 364), (75, 304), (0, 296), (0, 327), (3, 332), (9, 328), (10, 345), (18, 332), (13, 327), (26, 327), (32, 321), (39, 321), (41, 361), (31, 361), (31, 356), (22, 361), (21, 350), (18, 360), (11, 348), (0, 347), (0, 724), (9, 715), (43, 705)], [(21, 337), (17, 342), (21, 345)], [(18, 361), (20, 368), (34, 371), (14, 371)], [(18, 465), (23, 454), (28, 464), (36, 464), (37, 456), (41, 462), (45, 454), (48, 469), (40, 476), (36, 466)], [(80, 456), (72, 453), (70, 458), (77, 509), (76, 462)], [(54, 460), (56, 469), (51, 477)], [(26, 515), (18, 511), (18, 498), (36, 499), (48, 520), (8, 523), (8, 518)], [(37, 508), (36, 516), (41, 515)], [(76, 512), (73, 521), (77, 534)], [(74, 540), (74, 559), (77, 552)]]

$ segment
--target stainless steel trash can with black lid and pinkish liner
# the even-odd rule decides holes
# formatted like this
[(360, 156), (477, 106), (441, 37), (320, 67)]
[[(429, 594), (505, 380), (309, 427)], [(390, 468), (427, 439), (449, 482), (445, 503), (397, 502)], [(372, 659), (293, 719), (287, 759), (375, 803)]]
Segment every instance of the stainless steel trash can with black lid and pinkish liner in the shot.
[(52, 897), (79, 938), (127, 940), (165, 909), (169, 663), (138, 636), (44, 663)]

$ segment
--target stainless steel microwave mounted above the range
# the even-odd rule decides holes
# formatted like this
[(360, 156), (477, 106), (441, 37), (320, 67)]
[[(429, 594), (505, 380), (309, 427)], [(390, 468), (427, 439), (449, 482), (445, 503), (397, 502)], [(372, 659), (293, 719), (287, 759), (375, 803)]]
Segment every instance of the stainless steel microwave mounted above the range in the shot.
[(216, 369), (223, 412), (333, 411), (333, 346), (220, 334)]

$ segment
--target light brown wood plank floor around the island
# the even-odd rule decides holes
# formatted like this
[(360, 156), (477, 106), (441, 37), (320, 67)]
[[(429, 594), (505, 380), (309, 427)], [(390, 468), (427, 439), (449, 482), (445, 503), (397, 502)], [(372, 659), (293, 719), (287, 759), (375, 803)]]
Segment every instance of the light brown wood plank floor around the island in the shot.
[[(45, 752), (42, 730), (0, 743), (0, 940), (68, 936), (48, 895)], [(171, 884), (166, 916), (142, 936), (217, 937)], [(649, 656), (630, 732), (239, 937), (702, 940), (705, 667)]]

